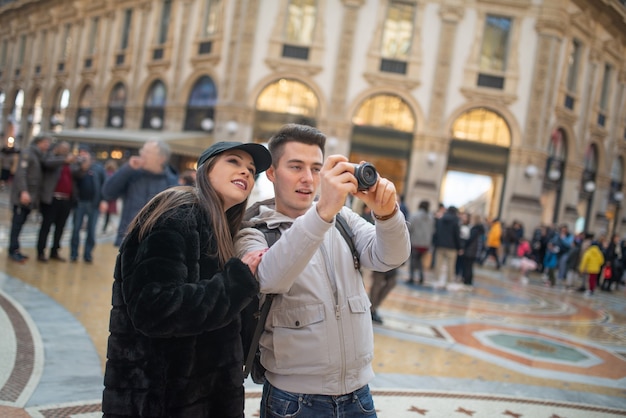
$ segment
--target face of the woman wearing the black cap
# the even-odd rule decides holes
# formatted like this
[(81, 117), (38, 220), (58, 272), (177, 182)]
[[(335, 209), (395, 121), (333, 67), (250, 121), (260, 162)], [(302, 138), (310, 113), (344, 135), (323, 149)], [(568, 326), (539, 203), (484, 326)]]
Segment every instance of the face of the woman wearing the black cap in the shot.
[(209, 172), (209, 182), (224, 200), (224, 211), (250, 196), (255, 173), (254, 161), (245, 151), (228, 150), (216, 157)]

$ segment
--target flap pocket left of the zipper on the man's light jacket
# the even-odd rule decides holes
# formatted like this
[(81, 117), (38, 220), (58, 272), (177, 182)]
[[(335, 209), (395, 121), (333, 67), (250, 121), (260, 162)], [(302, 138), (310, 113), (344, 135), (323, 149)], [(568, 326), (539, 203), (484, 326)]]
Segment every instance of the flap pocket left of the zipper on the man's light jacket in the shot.
[(272, 313), (274, 357), (279, 369), (319, 369), (330, 361), (323, 304)]

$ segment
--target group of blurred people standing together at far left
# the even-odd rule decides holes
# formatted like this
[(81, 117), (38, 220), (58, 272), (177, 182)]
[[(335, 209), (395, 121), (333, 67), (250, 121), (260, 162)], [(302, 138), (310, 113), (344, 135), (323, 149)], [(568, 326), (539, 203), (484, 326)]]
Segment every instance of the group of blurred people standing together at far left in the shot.
[[(31, 212), (39, 215), (37, 261), (93, 262), (96, 225), (104, 216), (102, 233), (122, 203), (115, 245), (119, 246), (128, 225), (139, 210), (159, 192), (178, 185), (193, 185), (195, 171), (180, 176), (169, 166), (170, 149), (162, 141), (148, 141), (118, 168), (115, 160), (97, 161), (90, 147), (72, 150), (66, 141), (40, 135), (22, 150), (2, 150), (2, 186), (11, 187), (11, 232), (9, 258), (24, 263), (19, 237)], [(10, 164), (6, 161), (12, 161)], [(11, 168), (9, 168), (11, 167)], [(71, 217), (69, 254), (62, 255), (62, 236)], [(81, 231), (85, 231), (81, 250)], [(52, 242), (49, 235), (52, 232)], [(49, 247), (49, 251), (48, 251)], [(82, 253), (82, 254), (79, 254)]]

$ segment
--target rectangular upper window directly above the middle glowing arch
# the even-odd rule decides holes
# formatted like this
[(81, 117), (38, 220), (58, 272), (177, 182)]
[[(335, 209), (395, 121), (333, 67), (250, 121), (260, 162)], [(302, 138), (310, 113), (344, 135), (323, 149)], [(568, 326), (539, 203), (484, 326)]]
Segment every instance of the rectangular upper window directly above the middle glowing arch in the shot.
[(383, 30), (382, 56), (406, 60), (413, 38), (415, 5), (392, 2), (387, 10)]

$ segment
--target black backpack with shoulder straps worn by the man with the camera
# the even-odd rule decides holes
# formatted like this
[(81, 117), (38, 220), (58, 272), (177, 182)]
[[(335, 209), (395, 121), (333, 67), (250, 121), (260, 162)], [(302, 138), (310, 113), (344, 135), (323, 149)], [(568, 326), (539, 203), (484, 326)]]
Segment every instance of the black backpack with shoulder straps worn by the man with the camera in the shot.
[[(361, 263), (359, 261), (359, 253), (354, 246), (354, 234), (350, 229), (348, 222), (346, 222), (346, 220), (339, 213), (335, 217), (335, 226), (350, 247), (354, 268), (359, 270)], [(278, 240), (278, 238), (280, 238), (280, 231), (278, 228), (270, 229), (265, 224), (258, 226), (255, 225), (254, 227), (263, 232), (268, 247), (271, 247)], [(261, 364), (259, 339), (263, 333), (267, 314), (269, 313), (274, 296), (274, 294), (265, 295), (265, 301), (259, 308), (260, 298), (259, 295), (257, 295), (241, 312), (243, 352), (247, 353), (245, 359), (246, 363), (243, 369), (243, 378), (245, 379), (248, 375), (250, 375), (252, 381), (257, 384), (263, 384), (265, 382), (265, 367)]]

